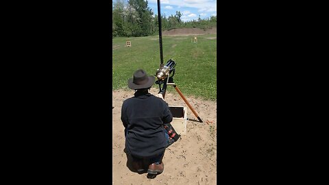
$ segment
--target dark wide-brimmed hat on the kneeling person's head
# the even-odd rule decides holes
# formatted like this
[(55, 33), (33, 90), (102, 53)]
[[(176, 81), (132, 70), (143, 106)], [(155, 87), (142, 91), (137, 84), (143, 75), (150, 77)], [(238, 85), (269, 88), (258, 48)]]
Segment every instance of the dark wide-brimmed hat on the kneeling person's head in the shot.
[(134, 72), (134, 76), (128, 79), (128, 87), (131, 89), (150, 88), (153, 86), (156, 78), (154, 76), (147, 76), (143, 69), (138, 69)]

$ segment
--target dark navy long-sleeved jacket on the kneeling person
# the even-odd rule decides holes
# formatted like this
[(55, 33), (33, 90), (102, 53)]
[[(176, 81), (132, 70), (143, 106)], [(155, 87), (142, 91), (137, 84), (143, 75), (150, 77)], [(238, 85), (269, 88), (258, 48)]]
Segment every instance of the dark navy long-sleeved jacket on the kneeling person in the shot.
[(132, 156), (148, 158), (167, 146), (163, 124), (171, 123), (168, 104), (147, 92), (136, 92), (123, 101), (121, 121), (125, 127), (125, 148)]

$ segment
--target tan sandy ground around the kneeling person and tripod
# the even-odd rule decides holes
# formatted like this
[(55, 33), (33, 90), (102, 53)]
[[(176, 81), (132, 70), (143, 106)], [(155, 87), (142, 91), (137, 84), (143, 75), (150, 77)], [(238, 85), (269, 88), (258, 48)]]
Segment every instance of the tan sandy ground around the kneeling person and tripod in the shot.
[[(184, 89), (182, 93), (184, 95)], [(151, 94), (158, 93), (151, 88)], [(173, 143), (164, 153), (164, 171), (154, 179), (147, 173), (130, 171), (125, 147), (124, 127), (120, 120), (123, 100), (132, 97), (134, 91), (113, 90), (112, 100), (112, 184), (216, 184), (217, 174), (217, 101), (204, 101), (186, 97), (204, 123), (199, 123), (178, 93), (167, 93), (169, 106), (184, 106), (187, 109), (186, 135)]]

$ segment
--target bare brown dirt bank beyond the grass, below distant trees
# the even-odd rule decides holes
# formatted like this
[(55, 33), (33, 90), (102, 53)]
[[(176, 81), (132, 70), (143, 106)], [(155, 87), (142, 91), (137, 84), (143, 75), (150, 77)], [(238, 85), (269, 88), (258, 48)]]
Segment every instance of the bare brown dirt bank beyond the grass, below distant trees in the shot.
[(196, 27), (188, 28), (176, 28), (171, 30), (166, 30), (162, 33), (164, 36), (197, 36), (204, 34), (217, 34), (217, 27), (212, 27), (211, 29), (199, 29)]

